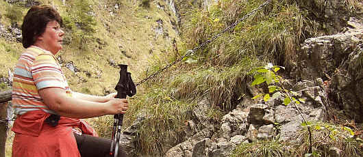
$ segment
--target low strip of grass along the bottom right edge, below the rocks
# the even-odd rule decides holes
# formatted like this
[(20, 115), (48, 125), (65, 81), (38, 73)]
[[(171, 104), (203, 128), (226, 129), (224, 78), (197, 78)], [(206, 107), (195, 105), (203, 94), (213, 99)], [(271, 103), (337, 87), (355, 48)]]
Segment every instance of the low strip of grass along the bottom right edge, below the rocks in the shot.
[(340, 156), (362, 156), (360, 145), (363, 144), (363, 141), (354, 137), (349, 127), (323, 122), (310, 122), (309, 126), (313, 128), (312, 137), (314, 139), (311, 154), (308, 154), (310, 147), (308, 142), (309, 131), (307, 125), (305, 125), (304, 129), (296, 137), (301, 139), (297, 143), (281, 142), (279, 139), (241, 143), (231, 154), (231, 157), (332, 156), (331, 149), (334, 148), (340, 149)]

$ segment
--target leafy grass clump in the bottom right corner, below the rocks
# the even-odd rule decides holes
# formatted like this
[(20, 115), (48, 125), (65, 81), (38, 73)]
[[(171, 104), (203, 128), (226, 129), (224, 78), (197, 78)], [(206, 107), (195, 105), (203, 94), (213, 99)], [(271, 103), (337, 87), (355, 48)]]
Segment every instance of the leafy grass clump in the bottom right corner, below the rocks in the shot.
[[(340, 126), (323, 122), (309, 123), (304, 125), (305, 129), (299, 133), (299, 143), (294, 144), (295, 152), (293, 156), (303, 156), (309, 149), (307, 126), (312, 129), (313, 152), (311, 156), (329, 156), (331, 149), (340, 149), (340, 156), (358, 157), (362, 156), (363, 141), (354, 136), (353, 130), (349, 126)], [(310, 154), (308, 154), (310, 155)], [(306, 156), (306, 155), (305, 155)]]

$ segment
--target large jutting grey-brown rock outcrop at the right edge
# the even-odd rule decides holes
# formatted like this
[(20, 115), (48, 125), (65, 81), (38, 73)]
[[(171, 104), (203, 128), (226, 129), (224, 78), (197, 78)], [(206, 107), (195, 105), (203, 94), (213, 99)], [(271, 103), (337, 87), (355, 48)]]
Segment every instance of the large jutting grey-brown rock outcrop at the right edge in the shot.
[(346, 31), (305, 40), (291, 76), (323, 78), (331, 104), (363, 122), (363, 20), (351, 18)]

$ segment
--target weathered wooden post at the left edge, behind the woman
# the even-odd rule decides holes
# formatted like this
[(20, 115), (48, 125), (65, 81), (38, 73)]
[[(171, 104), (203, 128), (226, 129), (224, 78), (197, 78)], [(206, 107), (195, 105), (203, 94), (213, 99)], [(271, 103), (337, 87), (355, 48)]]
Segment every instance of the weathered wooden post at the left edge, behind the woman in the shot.
[(8, 101), (12, 99), (12, 91), (0, 91), (0, 157), (5, 157), (5, 143), (8, 136)]

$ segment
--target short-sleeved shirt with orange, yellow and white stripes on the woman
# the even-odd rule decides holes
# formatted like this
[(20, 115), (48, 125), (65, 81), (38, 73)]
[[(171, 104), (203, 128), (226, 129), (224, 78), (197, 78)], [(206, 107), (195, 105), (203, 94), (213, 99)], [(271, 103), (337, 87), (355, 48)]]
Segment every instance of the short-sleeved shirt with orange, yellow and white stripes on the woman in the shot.
[(57, 87), (71, 93), (60, 64), (54, 55), (36, 46), (30, 46), (18, 59), (14, 70), (12, 104), (16, 115), (42, 110), (56, 114), (39, 96), (39, 90)]

